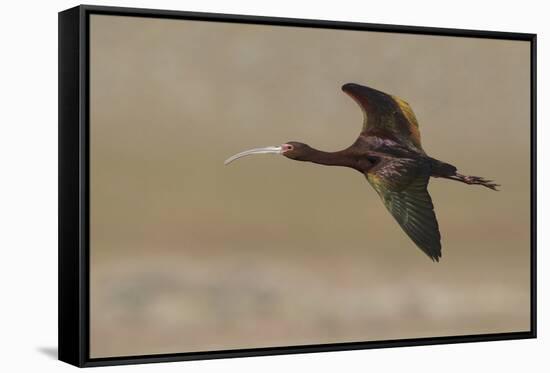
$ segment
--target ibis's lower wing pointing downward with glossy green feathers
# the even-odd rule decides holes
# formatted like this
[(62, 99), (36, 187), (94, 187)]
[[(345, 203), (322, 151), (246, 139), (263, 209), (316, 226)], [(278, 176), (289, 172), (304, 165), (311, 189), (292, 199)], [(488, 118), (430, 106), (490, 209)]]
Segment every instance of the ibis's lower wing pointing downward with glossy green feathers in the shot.
[(441, 236), (427, 190), (429, 165), (413, 159), (385, 158), (366, 177), (416, 246), (439, 261)]

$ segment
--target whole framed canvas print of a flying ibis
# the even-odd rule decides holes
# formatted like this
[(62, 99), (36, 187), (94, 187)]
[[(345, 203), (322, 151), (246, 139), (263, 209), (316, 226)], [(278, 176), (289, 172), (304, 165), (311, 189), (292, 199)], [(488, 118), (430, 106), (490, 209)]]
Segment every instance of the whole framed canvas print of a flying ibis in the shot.
[(533, 338), (533, 34), (59, 13), (59, 358)]

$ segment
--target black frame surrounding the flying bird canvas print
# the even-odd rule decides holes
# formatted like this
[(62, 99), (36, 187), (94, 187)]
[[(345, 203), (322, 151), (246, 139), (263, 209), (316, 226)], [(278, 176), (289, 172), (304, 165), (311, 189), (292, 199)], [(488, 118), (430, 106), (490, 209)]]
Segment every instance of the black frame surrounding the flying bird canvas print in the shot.
[[(92, 14), (528, 41), (531, 45), (529, 331), (90, 358), (89, 18)], [(59, 360), (78, 367), (536, 338), (536, 34), (81, 5), (59, 13)]]

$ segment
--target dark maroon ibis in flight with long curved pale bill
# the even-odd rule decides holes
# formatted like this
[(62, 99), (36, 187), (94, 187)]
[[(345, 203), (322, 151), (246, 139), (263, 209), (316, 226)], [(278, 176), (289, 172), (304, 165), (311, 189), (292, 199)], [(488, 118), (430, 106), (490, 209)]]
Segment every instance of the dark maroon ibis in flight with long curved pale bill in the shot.
[(498, 184), (465, 176), (455, 166), (428, 156), (420, 145), (418, 122), (408, 103), (399, 97), (359, 84), (342, 90), (363, 111), (363, 129), (347, 149), (324, 152), (289, 141), (281, 146), (256, 148), (235, 154), (225, 164), (251, 154), (282, 154), (297, 161), (353, 168), (366, 176), (388, 211), (405, 233), (432, 260), (441, 257), (441, 236), (432, 199), (430, 177), (441, 177), (497, 190)]

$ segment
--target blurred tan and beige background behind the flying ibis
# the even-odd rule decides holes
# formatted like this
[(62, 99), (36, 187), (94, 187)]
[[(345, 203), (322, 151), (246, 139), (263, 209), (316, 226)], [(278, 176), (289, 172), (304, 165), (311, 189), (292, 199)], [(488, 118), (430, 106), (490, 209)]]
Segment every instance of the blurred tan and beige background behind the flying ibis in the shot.
[[(91, 357), (529, 329), (529, 44), (91, 17)], [(350, 145), (355, 82), (432, 157), (432, 263), (365, 178), (241, 150)]]

